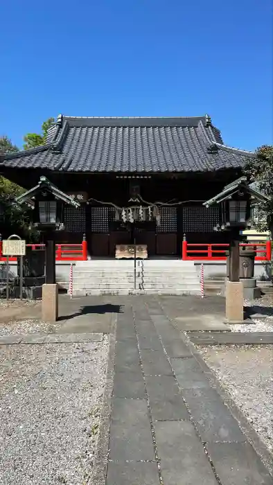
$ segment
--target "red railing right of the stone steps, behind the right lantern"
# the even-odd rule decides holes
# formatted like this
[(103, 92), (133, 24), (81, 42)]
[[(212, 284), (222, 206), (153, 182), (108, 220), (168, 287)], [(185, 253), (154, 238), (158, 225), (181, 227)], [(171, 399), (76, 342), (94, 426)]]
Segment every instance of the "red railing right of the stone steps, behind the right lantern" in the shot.
[[(271, 241), (265, 243), (241, 243), (240, 247), (253, 248), (256, 252), (256, 261), (271, 261)], [(206, 261), (226, 261), (226, 252), (229, 244), (195, 244), (183, 241), (182, 259), (183, 260), (206, 260)]]

